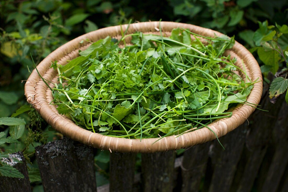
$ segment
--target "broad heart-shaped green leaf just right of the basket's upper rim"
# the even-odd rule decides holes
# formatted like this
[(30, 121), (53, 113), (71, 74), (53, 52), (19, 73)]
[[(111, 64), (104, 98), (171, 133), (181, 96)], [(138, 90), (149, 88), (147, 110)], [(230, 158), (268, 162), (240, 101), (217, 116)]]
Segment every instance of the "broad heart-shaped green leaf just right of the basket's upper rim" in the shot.
[(276, 50), (265, 51), (263, 47), (259, 47), (257, 54), (260, 60), (269, 66), (272, 66), (271, 72), (275, 74), (279, 68), (280, 55)]

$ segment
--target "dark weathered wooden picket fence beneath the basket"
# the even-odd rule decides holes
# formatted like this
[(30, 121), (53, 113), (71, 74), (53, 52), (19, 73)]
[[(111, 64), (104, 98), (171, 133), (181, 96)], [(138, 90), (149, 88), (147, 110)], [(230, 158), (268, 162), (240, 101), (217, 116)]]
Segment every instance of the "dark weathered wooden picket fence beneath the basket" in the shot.
[[(281, 98), (217, 141), (175, 151), (141, 154), (135, 173), (133, 153), (111, 153), (110, 183), (96, 187), (96, 150), (64, 138), (35, 148), (44, 191), (288, 191), (288, 105)], [(93, 153), (94, 151), (94, 153)], [(22, 153), (17, 153), (22, 155)], [(0, 191), (31, 191), (26, 164), (15, 167), (24, 179), (0, 177)]]

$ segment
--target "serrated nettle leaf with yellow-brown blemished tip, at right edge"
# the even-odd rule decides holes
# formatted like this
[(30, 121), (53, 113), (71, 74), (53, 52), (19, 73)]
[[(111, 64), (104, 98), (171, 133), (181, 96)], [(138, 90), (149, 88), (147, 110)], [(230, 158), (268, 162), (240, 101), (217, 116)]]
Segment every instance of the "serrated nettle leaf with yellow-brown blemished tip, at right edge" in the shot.
[(284, 93), (288, 88), (288, 79), (284, 79), (283, 77), (275, 78), (269, 89), (269, 97), (270, 98), (277, 98), (279, 95)]

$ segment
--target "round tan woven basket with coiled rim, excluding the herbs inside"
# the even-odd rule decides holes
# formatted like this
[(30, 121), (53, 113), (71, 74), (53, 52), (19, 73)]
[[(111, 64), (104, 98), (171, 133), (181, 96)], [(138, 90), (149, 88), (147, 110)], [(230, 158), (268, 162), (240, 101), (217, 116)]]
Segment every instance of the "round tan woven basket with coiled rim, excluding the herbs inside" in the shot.
[[(160, 22), (140, 22), (130, 24), (126, 34), (134, 33), (136, 31), (159, 34), (159, 24)], [(223, 35), (217, 31), (191, 24), (161, 22), (160, 25), (162, 34), (166, 36), (169, 36), (172, 29), (177, 27), (188, 28), (190, 31), (204, 36), (214, 37), (215, 35)], [(122, 25), (122, 30), (125, 31), (127, 27), (128, 25)], [(72, 60), (78, 56), (78, 50), (85, 50), (91, 44), (85, 40), (89, 39), (90, 42), (95, 42), (98, 39), (103, 39), (107, 36), (120, 39), (121, 26), (102, 28), (77, 37), (62, 45), (49, 54), (37, 66), (39, 73), (44, 79), (54, 83), (57, 82), (57, 73), (50, 68), (53, 61), (58, 61), (58, 64), (65, 65), (67, 64), (67, 60)], [(82, 40), (84, 40), (84, 43), (80, 43)], [(129, 42), (128, 38), (126, 39), (126, 42)], [(225, 52), (226, 56), (229, 54), (232, 58), (236, 57), (236, 65), (242, 70), (244, 70), (242, 64), (243, 60), (248, 76), (252, 81), (258, 79), (259, 82), (254, 84), (251, 94), (247, 98), (247, 102), (255, 104), (253, 107), (251, 104), (238, 104), (238, 106), (232, 111), (232, 117), (216, 120), (208, 125), (218, 137), (227, 134), (241, 125), (255, 110), (255, 106), (259, 104), (262, 94), (262, 74), (258, 63), (252, 54), (238, 42), (235, 42), (235, 45), (231, 50)], [(50, 87), (54, 87), (54, 85), (50, 83)], [(216, 138), (213, 132), (208, 128), (201, 128), (199, 130), (182, 134), (178, 137), (164, 137), (157, 142), (155, 141), (158, 140), (158, 138), (142, 139), (140, 141), (140, 139), (115, 138), (93, 133), (77, 126), (72, 120), (59, 114), (54, 105), (49, 104), (53, 100), (52, 92), (39, 77), (35, 69), (25, 84), (25, 95), (27, 101), (33, 104), (34, 108), (41, 114), (41, 116), (58, 132), (61, 132), (73, 140), (77, 140), (98, 149), (119, 152), (154, 153), (158, 151), (190, 147)]]

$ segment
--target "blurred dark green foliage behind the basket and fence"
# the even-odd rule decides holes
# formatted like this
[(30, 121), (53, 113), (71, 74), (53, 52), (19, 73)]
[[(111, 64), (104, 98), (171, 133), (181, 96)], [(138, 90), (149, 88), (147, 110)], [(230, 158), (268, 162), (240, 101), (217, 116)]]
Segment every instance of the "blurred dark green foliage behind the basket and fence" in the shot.
[[(62, 135), (53, 131), (26, 102), (24, 83), (34, 69), (31, 55), (37, 65), (57, 47), (84, 33), (126, 24), (130, 19), (132, 22), (162, 19), (195, 24), (235, 36), (236, 41), (253, 52), (266, 77), (269, 72), (275, 74), (286, 67), (287, 7), (287, 0), (2, 0), (0, 117), (10, 117), (24, 105), (26, 107), (20, 108), (18, 113), (25, 113), (12, 116), (24, 119), (26, 128), (20, 137), (17, 136), (19, 144), (4, 143), (0, 145), (0, 153), (24, 151), (27, 160), (32, 162), (29, 166), (31, 175), (35, 176), (32, 180), (34, 190), (41, 189), (33, 146), (56, 140)], [(277, 42), (278, 48), (273, 41)], [(273, 53), (274, 58), (263, 58), (267, 51)], [(11, 136), (11, 129), (11, 126), (0, 125), (0, 132), (5, 132), (2, 138)], [(109, 153), (97, 152), (95, 162), (97, 185), (103, 185), (108, 182)]]

